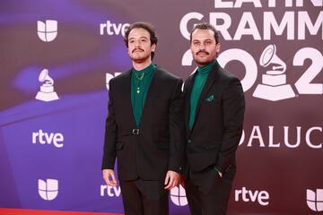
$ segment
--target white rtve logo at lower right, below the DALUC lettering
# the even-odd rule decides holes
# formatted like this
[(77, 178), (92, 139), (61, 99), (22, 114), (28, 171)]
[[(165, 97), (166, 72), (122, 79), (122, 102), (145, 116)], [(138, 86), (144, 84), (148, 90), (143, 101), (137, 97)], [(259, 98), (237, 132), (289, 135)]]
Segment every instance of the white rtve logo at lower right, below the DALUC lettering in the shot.
[(234, 192), (234, 201), (239, 202), (240, 200), (243, 202), (258, 202), (260, 205), (266, 206), (269, 204), (269, 193), (258, 190), (253, 192), (243, 186), (241, 190), (235, 190)]

